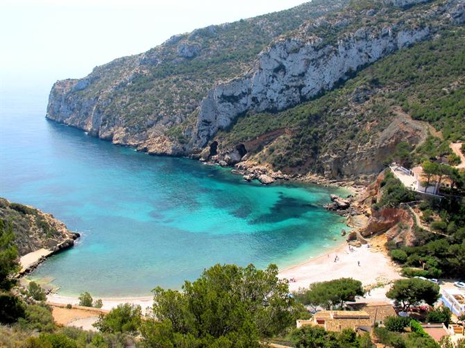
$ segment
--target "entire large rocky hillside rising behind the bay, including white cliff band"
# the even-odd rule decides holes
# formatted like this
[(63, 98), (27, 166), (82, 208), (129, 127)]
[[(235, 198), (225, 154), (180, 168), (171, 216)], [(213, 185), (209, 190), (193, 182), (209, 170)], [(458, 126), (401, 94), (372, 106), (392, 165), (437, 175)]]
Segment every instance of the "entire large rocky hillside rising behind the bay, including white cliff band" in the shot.
[(464, 137), (464, 8), (312, 1), (209, 26), (56, 82), (47, 117), (152, 154), (367, 181), (400, 141), (445, 155)]

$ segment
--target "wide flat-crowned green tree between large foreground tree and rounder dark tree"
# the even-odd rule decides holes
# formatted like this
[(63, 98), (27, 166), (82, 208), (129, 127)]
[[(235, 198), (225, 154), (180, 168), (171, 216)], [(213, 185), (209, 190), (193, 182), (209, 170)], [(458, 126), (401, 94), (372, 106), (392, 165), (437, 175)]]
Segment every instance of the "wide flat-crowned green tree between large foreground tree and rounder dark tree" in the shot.
[(310, 289), (301, 290), (296, 294), (303, 304), (308, 304), (316, 309), (317, 306), (327, 310), (337, 307), (343, 308), (344, 302), (350, 301), (355, 296), (364, 295), (362, 282), (352, 278), (334, 279), (310, 284)]

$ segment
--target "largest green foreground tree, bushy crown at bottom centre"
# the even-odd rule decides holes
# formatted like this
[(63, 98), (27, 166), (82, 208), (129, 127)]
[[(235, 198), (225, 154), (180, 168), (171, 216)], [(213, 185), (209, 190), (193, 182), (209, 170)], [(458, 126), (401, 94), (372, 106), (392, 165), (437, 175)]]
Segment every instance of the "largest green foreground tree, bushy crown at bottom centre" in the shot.
[(160, 322), (144, 322), (144, 342), (160, 340), (171, 345), (184, 337), (204, 346), (233, 347), (237, 342), (257, 347), (260, 336), (278, 335), (295, 324), (300, 308), (289, 297), (287, 281), (278, 279), (274, 265), (266, 270), (215, 265), (196, 281), (186, 281), (183, 292), (158, 287), (153, 295), (153, 315)]

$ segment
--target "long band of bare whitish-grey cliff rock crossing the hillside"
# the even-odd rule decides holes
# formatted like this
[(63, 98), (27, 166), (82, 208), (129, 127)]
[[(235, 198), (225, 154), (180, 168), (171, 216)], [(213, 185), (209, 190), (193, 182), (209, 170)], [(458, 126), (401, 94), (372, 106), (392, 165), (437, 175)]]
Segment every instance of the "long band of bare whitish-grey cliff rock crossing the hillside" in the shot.
[(254, 69), (212, 89), (201, 103), (194, 148), (247, 111), (283, 110), (331, 89), (364, 64), (424, 40), (425, 28), (359, 28), (336, 44), (286, 39), (260, 54)]

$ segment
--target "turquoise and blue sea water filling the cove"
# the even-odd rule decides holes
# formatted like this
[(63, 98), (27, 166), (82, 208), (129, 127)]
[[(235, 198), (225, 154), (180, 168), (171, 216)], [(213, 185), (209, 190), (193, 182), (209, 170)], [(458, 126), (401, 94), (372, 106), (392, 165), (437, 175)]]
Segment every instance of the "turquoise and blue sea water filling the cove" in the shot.
[(62, 295), (149, 295), (214, 263), (285, 267), (341, 241), (341, 217), (320, 206), (335, 190), (246, 183), (228, 169), (137, 153), (47, 121), (43, 108), (21, 98), (1, 107), (0, 195), (82, 234), (31, 276)]

